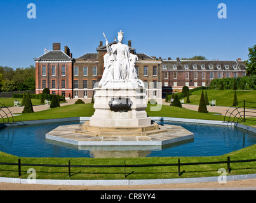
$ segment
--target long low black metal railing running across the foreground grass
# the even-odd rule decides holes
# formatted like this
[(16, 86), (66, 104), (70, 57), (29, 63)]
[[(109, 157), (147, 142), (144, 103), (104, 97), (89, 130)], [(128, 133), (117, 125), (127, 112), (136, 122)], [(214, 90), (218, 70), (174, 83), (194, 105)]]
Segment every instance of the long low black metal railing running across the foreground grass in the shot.
[[(119, 165), (71, 165), (71, 161), (69, 160), (68, 164), (25, 164), (22, 163), (20, 159), (18, 159), (18, 163), (8, 163), (8, 162), (0, 162), (0, 165), (13, 165), (18, 166), (18, 176), (22, 175), (22, 166), (40, 166), (40, 167), (67, 167), (69, 177), (71, 177), (71, 168), (72, 167), (123, 167), (124, 168), (124, 174), (125, 178), (128, 176), (126, 173), (127, 167), (165, 167), (165, 166), (177, 166), (177, 173), (180, 177), (180, 166), (191, 166), (191, 165), (208, 165), (208, 164), (227, 164), (227, 173), (230, 173), (231, 163), (239, 163), (239, 162), (255, 162), (256, 159), (247, 159), (247, 160), (230, 160), (230, 157), (227, 157), (227, 160), (223, 161), (213, 161), (213, 162), (190, 162), (190, 163), (182, 163), (180, 162), (180, 159), (178, 159), (177, 163), (173, 164), (126, 164), (126, 161), (124, 164)], [(256, 166), (255, 166), (256, 167)], [(184, 172), (183, 172), (184, 173)]]

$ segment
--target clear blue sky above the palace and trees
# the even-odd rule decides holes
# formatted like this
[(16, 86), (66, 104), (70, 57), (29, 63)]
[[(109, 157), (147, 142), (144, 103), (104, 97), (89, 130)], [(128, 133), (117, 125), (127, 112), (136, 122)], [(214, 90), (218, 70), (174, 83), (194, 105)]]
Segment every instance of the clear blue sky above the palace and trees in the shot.
[[(36, 5), (36, 19), (27, 18), (27, 5)], [(227, 6), (220, 19), (218, 4)], [(208, 60), (248, 58), (256, 44), (255, 0), (211, 1), (66, 1), (1, 0), (0, 65), (29, 67), (44, 48), (61, 43), (73, 57), (96, 53), (102, 32), (109, 42), (125, 32), (137, 53), (173, 59), (205, 56)]]

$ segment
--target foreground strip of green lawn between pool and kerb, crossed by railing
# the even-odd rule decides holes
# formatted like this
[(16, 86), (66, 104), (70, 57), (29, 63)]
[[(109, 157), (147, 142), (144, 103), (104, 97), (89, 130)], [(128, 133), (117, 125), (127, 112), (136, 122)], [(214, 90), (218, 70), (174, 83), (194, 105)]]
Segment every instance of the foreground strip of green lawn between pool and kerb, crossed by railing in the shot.
[[(227, 160), (256, 159), (256, 145), (243, 148), (236, 152), (217, 157), (137, 157), (137, 158), (27, 158), (16, 157), (14, 155), (0, 152), (0, 162), (18, 162), (18, 158), (25, 164), (64, 164), (71, 160), (71, 165), (123, 165), (126, 164), (170, 164), (180, 162), (212, 162)], [(62, 180), (114, 180), (114, 179), (158, 179), (158, 178), (179, 178), (177, 166), (165, 167), (126, 167), (126, 177), (124, 167), (107, 168), (71, 168), (71, 178), (68, 176), (67, 167), (39, 167), (22, 166), (22, 176), (27, 178), (27, 169), (36, 169), (37, 179), (62, 179)], [(219, 176), (220, 168), (227, 169), (227, 164), (209, 164), (196, 166), (181, 166), (180, 178)], [(256, 173), (256, 162), (231, 163), (231, 175)], [(18, 178), (18, 166), (0, 165), (1, 177)]]

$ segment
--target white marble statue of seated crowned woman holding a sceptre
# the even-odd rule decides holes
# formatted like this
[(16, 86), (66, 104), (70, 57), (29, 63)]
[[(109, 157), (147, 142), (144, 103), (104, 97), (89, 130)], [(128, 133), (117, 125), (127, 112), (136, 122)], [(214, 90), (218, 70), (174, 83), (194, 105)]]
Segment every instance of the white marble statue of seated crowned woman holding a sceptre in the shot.
[(122, 43), (123, 34), (121, 30), (118, 32), (118, 44), (112, 44), (112, 46), (109, 46), (109, 42), (106, 39), (107, 53), (104, 55), (104, 73), (99, 87), (103, 87), (108, 82), (113, 81), (137, 82), (144, 87), (144, 82), (138, 79), (135, 70), (138, 56), (131, 54), (129, 46)]

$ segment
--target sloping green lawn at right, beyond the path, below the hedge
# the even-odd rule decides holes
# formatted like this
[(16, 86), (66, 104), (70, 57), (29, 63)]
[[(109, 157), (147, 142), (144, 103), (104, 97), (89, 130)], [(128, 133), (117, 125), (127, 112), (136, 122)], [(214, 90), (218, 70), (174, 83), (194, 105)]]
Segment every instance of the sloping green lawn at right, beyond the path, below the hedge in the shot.
[[(215, 89), (205, 89), (203, 90), (204, 94), (207, 91), (208, 100), (216, 100), (217, 106), (231, 107), (234, 99), (234, 90), (215, 90)], [(192, 92), (192, 95), (189, 95), (190, 104), (199, 105), (199, 100), (202, 90)], [(256, 102), (256, 90), (246, 91), (246, 90), (237, 90), (236, 96), (239, 101), (254, 101)], [(184, 98), (186, 101), (186, 98)], [(253, 107), (256, 107), (254, 104)]]

